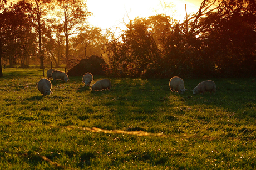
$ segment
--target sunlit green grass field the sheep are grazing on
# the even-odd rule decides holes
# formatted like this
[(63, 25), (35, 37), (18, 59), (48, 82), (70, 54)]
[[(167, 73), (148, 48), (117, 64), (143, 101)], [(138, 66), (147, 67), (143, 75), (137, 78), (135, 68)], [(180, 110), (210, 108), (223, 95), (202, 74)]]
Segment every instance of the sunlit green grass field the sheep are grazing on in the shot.
[(184, 79), (179, 95), (170, 79), (110, 78), (109, 92), (80, 76), (43, 97), (41, 72), (3, 69), (0, 169), (256, 168), (254, 78), (209, 78), (215, 95), (193, 95), (206, 79)]

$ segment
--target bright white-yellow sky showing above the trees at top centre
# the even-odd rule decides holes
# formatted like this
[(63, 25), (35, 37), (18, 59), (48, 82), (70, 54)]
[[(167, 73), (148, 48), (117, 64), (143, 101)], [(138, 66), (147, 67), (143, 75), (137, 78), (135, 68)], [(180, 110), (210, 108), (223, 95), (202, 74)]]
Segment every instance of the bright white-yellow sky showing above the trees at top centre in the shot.
[[(166, 13), (181, 20), (185, 17), (185, 4), (188, 14), (197, 12), (203, 0), (161, 0), (167, 4), (175, 5), (176, 13), (173, 11), (164, 12), (160, 0), (87, 0), (88, 11), (93, 13), (89, 18), (91, 25), (100, 27), (102, 30), (111, 27), (125, 29), (124, 24), (135, 17), (149, 17), (155, 14)], [(127, 16), (128, 15), (128, 16)], [(129, 17), (129, 18), (128, 18)]]

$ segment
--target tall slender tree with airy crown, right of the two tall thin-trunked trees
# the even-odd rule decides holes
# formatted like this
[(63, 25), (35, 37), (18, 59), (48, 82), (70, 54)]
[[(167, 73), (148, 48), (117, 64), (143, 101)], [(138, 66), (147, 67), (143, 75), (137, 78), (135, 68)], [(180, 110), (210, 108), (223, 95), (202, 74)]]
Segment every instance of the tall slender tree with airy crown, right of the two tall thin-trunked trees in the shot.
[(75, 35), (87, 24), (86, 20), (91, 15), (87, 11), (86, 3), (82, 0), (58, 0), (56, 16), (58, 24), (61, 25), (66, 38), (66, 64), (70, 67), (69, 40), (71, 35)]

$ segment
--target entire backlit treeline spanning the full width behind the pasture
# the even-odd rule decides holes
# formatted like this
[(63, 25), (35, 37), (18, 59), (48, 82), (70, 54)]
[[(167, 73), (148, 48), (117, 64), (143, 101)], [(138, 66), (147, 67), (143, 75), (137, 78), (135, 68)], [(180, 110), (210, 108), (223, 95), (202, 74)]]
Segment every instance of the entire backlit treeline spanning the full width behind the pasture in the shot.
[(82, 0), (3, 0), (0, 60), (71, 68), (97, 55), (109, 76), (255, 76), (255, 11), (254, 0), (203, 0), (182, 22), (165, 14), (138, 17), (114, 39), (88, 23)]

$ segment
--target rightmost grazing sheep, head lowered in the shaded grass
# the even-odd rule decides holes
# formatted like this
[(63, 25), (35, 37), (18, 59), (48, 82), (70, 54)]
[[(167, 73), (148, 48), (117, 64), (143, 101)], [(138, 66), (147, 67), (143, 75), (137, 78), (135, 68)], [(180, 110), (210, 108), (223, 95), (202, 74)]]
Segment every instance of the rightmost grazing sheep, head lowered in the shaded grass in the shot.
[(193, 95), (201, 93), (204, 94), (205, 91), (209, 91), (210, 94), (211, 92), (216, 92), (216, 84), (214, 81), (211, 80), (206, 80), (201, 83), (199, 83), (193, 90)]

